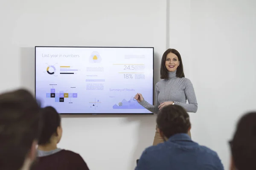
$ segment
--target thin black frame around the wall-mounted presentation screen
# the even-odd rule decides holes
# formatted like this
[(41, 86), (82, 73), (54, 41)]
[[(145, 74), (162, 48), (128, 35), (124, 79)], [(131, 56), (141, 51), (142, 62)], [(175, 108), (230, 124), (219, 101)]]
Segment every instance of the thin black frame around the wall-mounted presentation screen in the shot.
[[(154, 47), (128, 47), (128, 46), (35, 46), (35, 98), (36, 98), (36, 48), (152, 48), (153, 58), (152, 58), (152, 69), (153, 69), (153, 93), (152, 93), (152, 103), (154, 105)], [(154, 113), (59, 113), (61, 115), (153, 115)]]

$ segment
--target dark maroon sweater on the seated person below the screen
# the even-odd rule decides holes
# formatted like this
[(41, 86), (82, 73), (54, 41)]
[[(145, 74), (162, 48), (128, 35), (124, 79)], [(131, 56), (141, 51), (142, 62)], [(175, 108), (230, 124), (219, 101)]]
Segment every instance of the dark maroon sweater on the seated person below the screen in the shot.
[(70, 150), (38, 157), (31, 170), (89, 170), (84, 159)]

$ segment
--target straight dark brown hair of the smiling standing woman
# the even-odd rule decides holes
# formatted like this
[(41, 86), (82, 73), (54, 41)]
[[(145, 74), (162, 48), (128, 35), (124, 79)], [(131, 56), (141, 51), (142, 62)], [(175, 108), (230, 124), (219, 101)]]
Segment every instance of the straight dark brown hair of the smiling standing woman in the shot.
[(167, 54), (169, 53), (173, 53), (175, 54), (177, 57), (178, 57), (178, 60), (180, 61), (180, 65), (179, 67), (177, 68), (177, 71), (176, 71), (176, 77), (185, 77), (185, 74), (184, 74), (184, 71), (183, 71), (183, 64), (182, 64), (182, 59), (181, 59), (181, 56), (180, 56), (180, 53), (173, 49), (173, 48), (169, 48), (168, 50), (166, 50), (164, 53), (163, 53), (163, 57), (162, 57), (162, 61), (161, 61), (161, 69), (160, 69), (160, 78), (161, 79), (168, 79), (168, 70), (166, 68), (166, 57), (167, 57)]

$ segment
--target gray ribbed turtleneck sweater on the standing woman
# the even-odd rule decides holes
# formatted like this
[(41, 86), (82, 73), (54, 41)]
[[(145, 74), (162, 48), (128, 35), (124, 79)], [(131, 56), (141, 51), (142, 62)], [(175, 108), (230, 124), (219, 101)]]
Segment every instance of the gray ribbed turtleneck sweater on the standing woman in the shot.
[(163, 102), (174, 102), (175, 105), (182, 106), (187, 112), (195, 113), (197, 111), (198, 103), (192, 82), (185, 77), (176, 77), (176, 71), (169, 72), (169, 79), (157, 82), (155, 88), (156, 105), (151, 105), (145, 100), (139, 102), (148, 111), (157, 114), (158, 106)]

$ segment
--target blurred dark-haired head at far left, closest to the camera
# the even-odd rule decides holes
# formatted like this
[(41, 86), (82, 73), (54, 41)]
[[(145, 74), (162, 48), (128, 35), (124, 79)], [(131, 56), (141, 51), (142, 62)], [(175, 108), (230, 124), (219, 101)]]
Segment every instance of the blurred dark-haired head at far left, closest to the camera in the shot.
[(0, 169), (29, 169), (36, 158), (40, 106), (29, 91), (0, 94)]

